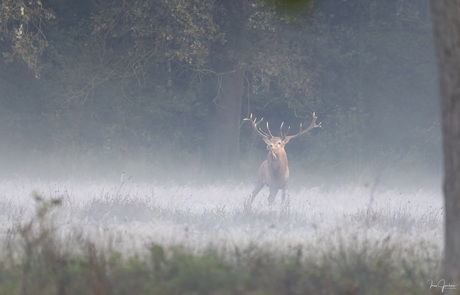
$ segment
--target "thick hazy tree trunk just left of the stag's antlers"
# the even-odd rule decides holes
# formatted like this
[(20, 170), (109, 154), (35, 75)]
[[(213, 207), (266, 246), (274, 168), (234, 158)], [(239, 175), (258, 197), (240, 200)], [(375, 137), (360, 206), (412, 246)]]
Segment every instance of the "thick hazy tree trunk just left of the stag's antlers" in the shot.
[(226, 43), (216, 49), (214, 69), (218, 73), (213, 85), (212, 113), (210, 120), (210, 140), (208, 169), (215, 177), (228, 176), (236, 171), (239, 163), (239, 138), (241, 104), (244, 94), (244, 69), (240, 66), (244, 59), (242, 52), (246, 42), (244, 1), (218, 1), (223, 11), (216, 18)]

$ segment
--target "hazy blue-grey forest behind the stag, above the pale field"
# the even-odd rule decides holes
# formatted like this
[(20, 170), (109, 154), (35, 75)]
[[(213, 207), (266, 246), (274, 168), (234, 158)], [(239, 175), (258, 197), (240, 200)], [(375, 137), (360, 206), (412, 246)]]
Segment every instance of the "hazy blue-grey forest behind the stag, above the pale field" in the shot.
[(1, 175), (250, 181), (315, 111), (293, 183), (440, 177), (429, 1), (296, 3), (3, 0)]

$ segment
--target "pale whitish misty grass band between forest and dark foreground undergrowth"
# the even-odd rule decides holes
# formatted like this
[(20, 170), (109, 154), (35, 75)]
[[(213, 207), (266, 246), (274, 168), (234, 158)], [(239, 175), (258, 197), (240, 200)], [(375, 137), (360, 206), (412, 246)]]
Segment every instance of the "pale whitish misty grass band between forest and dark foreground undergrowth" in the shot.
[[(439, 192), (369, 188), (302, 188), (271, 207), (264, 189), (249, 209), (252, 187), (122, 183), (0, 183), (0, 236), (35, 215), (32, 192), (61, 198), (50, 217), (66, 247), (90, 239), (103, 249), (145, 251), (152, 243), (235, 251), (250, 246), (276, 251), (295, 247), (315, 253), (377, 247), (383, 241), (430, 255), (443, 242)], [(371, 196), (373, 202), (370, 205)], [(16, 237), (18, 238), (18, 237)], [(5, 244), (5, 243), (4, 243)]]

